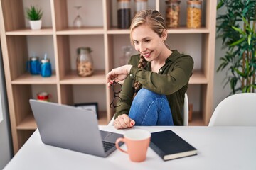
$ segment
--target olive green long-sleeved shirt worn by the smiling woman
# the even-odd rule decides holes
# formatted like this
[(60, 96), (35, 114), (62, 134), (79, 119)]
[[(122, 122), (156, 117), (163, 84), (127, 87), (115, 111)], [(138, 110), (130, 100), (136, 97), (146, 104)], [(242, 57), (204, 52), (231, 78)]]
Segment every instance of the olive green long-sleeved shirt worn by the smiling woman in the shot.
[(143, 88), (166, 95), (174, 125), (183, 125), (184, 95), (188, 89), (188, 81), (192, 75), (193, 59), (189, 55), (182, 55), (173, 50), (171, 55), (158, 73), (151, 72), (150, 62), (145, 69), (139, 69), (139, 55), (133, 55), (129, 60), (132, 69), (127, 79), (124, 80), (120, 97), (122, 105), (116, 108), (115, 118), (118, 115), (128, 114), (132, 105), (134, 94), (134, 81), (139, 81)]

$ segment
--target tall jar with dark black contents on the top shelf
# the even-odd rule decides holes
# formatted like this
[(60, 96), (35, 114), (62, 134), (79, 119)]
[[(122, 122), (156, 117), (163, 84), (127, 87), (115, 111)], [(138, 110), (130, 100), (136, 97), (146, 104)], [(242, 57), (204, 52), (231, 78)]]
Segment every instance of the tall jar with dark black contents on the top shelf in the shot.
[(117, 0), (117, 25), (118, 28), (127, 29), (131, 24), (131, 1)]

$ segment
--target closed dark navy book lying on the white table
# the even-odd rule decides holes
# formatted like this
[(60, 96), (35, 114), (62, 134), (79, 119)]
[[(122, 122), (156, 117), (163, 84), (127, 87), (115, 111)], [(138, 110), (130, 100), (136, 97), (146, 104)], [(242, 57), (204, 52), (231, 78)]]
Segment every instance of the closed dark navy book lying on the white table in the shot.
[(195, 147), (171, 130), (151, 133), (149, 146), (164, 161), (197, 154)]

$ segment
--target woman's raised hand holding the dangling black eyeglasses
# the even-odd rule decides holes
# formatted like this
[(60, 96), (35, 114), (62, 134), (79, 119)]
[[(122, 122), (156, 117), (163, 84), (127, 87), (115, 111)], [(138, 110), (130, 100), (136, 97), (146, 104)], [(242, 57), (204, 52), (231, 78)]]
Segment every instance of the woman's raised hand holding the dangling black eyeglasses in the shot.
[(119, 82), (119, 81), (126, 79), (131, 68), (132, 68), (132, 65), (127, 64), (127, 65), (112, 69), (112, 71), (109, 72), (106, 77), (107, 86), (110, 86), (110, 84), (112, 84), (113, 81)]

